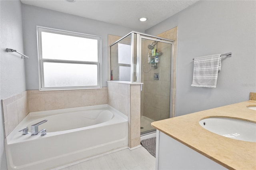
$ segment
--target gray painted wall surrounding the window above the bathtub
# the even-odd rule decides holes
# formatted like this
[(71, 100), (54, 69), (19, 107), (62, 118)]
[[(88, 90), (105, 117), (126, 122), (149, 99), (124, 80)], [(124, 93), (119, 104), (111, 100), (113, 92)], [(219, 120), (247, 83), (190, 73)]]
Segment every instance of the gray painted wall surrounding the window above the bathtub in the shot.
[[(62, 12), (47, 10), (29, 5), (22, 5), (23, 27), (24, 27), (24, 49), (25, 54), (30, 57), (26, 60), (26, 87), (27, 90), (39, 89), (38, 55), (36, 26), (44, 26), (92, 34), (102, 38), (102, 87), (106, 87), (108, 80), (108, 34), (125, 36), (132, 28), (125, 28), (82, 18)], [(141, 30), (137, 30), (141, 31)], [(85, 51), (86, 53), (86, 51)]]

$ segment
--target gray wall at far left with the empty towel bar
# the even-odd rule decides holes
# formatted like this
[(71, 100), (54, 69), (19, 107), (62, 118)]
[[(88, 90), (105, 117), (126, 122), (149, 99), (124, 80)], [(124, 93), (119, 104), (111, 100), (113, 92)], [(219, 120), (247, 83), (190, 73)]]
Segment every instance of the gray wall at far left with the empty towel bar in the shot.
[[(0, 99), (26, 90), (24, 61), (18, 53), (7, 53), (6, 48), (23, 53), (22, 4), (20, 1), (0, 1)], [(1, 105), (0, 115), (0, 169), (7, 169), (4, 151), (4, 125)]]

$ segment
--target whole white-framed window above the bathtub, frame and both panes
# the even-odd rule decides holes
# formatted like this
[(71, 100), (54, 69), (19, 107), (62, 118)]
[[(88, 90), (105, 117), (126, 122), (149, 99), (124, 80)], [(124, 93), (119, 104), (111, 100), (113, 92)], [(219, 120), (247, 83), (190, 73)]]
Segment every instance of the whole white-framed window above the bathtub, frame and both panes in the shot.
[(37, 27), (40, 90), (101, 87), (99, 36)]

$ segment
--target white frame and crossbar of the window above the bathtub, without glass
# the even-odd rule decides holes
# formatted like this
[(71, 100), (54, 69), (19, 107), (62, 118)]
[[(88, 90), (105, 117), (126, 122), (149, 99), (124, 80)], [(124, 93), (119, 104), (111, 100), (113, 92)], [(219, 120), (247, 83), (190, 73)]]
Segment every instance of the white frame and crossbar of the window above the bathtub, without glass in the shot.
[[(71, 89), (99, 89), (102, 88), (102, 81), (101, 81), (101, 37), (94, 36), (89, 34), (83, 34), (78, 32), (71, 32), (65, 30), (58, 30), (54, 28), (46, 28), (41, 26), (36, 26), (37, 30), (37, 42), (38, 42), (38, 69), (39, 69), (39, 90), (71, 90)], [(68, 36), (76, 36), (82, 38), (89, 38), (98, 41), (98, 62), (92, 61), (72, 61), (72, 60), (60, 60), (60, 59), (44, 59), (42, 58), (42, 32), (49, 32), (54, 34), (62, 34)], [(76, 50), (76, 49), (74, 49)], [(79, 49), (81, 50), (81, 49)], [(86, 53), (86, 49), (82, 49), (84, 53)], [(71, 86), (71, 87), (44, 87), (44, 62), (50, 63), (76, 63), (76, 64), (92, 64), (97, 65), (97, 85), (95, 86)]]

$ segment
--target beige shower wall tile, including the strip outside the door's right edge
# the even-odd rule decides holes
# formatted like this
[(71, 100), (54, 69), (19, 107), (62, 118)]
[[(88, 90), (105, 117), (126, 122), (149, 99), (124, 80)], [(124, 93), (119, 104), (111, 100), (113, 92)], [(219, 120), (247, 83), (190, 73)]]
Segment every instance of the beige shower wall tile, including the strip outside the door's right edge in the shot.
[[(178, 27), (172, 28), (158, 34), (158, 37), (167, 38), (170, 40), (174, 40), (173, 46), (173, 60), (170, 63), (170, 60), (167, 61), (167, 57), (164, 57), (164, 53), (168, 52), (166, 49), (159, 49), (159, 51), (163, 52), (163, 56), (159, 57), (158, 68), (153, 69), (149, 73), (144, 73), (142, 71), (142, 82), (145, 84), (142, 88), (142, 106), (141, 106), (141, 115), (149, 117), (155, 121), (166, 119), (169, 117), (169, 113), (167, 109), (168, 105), (171, 107), (171, 115), (175, 117), (175, 105), (176, 105), (176, 60), (177, 60), (177, 34)], [(151, 41), (152, 42), (152, 41)], [(150, 43), (150, 41), (143, 42), (146, 45)], [(144, 46), (145, 46), (144, 44)], [(142, 49), (142, 59), (144, 61), (144, 70), (145, 72), (150, 70), (150, 67), (147, 65), (147, 53), (148, 49)], [(163, 64), (164, 63), (164, 64)], [(166, 67), (167, 66), (167, 67)], [(169, 68), (168, 68), (169, 67)], [(169, 73), (172, 73), (172, 77), (170, 77)], [(154, 81), (154, 73), (159, 73), (160, 80)], [(171, 91), (166, 92), (162, 89), (170, 88), (169, 78), (172, 79)], [(171, 95), (171, 96), (170, 96)], [(157, 99), (161, 99), (159, 102)], [(170, 99), (172, 102), (170, 103)]]

